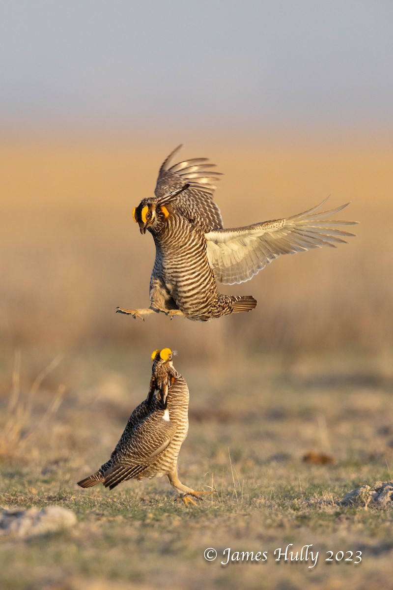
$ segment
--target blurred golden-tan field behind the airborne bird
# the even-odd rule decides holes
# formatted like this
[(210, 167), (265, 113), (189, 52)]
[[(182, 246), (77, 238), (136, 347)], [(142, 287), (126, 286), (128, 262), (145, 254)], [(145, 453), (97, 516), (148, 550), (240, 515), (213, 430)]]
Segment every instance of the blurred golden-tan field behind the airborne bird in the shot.
[(339, 218), (360, 222), (349, 228), (357, 237), (222, 287), (255, 296), (250, 314), (208, 324), (115, 314), (148, 304), (154, 244), (131, 211), (153, 193), (173, 147), (140, 137), (3, 140), (2, 346), (124, 342), (192, 355), (236, 338), (245, 349), (391, 349), (393, 149), (384, 140), (188, 142), (179, 159), (206, 156), (224, 173), (216, 201), (226, 227), (292, 215), (331, 195), (325, 208), (351, 201)]

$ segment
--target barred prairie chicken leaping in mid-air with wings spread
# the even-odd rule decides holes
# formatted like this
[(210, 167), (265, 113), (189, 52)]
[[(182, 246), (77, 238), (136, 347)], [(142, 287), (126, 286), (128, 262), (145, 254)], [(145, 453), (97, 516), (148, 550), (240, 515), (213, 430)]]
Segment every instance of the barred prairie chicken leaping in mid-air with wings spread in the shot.
[(178, 146), (158, 173), (156, 196), (143, 199), (133, 217), (141, 234), (146, 230), (156, 244), (156, 260), (150, 279), (150, 307), (117, 308), (134, 318), (164, 312), (203, 322), (229, 313), (249, 312), (256, 306), (252, 296), (224, 295), (223, 284), (248, 281), (281, 254), (309, 248), (335, 247), (353, 236), (339, 229), (354, 221), (329, 218), (348, 203), (330, 211), (321, 204), (285, 219), (273, 219), (226, 229), (220, 209), (213, 201), (220, 173), (207, 158), (184, 160), (170, 166)]

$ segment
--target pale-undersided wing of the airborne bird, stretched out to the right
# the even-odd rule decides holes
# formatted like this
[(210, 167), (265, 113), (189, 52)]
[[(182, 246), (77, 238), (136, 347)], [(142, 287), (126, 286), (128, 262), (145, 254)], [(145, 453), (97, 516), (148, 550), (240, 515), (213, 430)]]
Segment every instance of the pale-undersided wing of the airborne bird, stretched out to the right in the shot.
[(229, 285), (243, 283), (281, 254), (295, 254), (322, 246), (335, 247), (346, 242), (344, 237), (355, 234), (338, 227), (356, 221), (326, 218), (344, 209), (348, 203), (330, 211), (317, 212), (327, 200), (286, 219), (206, 233), (207, 256), (216, 279)]

